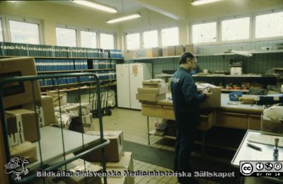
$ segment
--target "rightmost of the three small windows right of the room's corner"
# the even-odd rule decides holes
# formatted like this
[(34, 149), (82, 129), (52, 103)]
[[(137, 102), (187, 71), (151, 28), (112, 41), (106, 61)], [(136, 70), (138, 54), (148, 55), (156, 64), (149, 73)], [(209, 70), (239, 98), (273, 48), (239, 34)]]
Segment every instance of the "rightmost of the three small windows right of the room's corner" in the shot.
[(179, 28), (161, 30), (162, 46), (179, 45)]

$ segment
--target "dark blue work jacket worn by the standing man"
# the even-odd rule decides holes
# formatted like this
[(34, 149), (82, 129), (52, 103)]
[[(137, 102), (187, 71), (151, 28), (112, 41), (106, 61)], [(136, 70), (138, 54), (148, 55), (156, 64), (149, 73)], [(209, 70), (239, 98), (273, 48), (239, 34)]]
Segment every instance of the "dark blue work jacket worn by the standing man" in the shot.
[(197, 86), (190, 71), (180, 67), (171, 80), (171, 94), (177, 123), (190, 123), (193, 127), (200, 125), (200, 103), (206, 96), (197, 93)]

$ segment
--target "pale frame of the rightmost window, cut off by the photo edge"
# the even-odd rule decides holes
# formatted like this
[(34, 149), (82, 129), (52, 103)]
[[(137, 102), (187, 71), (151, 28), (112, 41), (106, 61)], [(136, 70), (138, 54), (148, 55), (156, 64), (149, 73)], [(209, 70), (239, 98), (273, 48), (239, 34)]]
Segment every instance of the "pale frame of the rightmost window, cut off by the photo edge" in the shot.
[(259, 40), (263, 40), (263, 41), (267, 41), (267, 40), (277, 40), (277, 39), (282, 39), (283, 38), (283, 35), (282, 36), (274, 36), (274, 37), (265, 37), (265, 38), (255, 38), (255, 31), (256, 31), (256, 28), (255, 28), (255, 24), (256, 24), (256, 16), (263, 16), (263, 15), (266, 15), (266, 14), (270, 14), (270, 13), (279, 13), (279, 12), (283, 12), (283, 8), (273, 8), (269, 11), (261, 11), (261, 12), (257, 12), (257, 13), (253, 13), (253, 40), (255, 41), (259, 41)]

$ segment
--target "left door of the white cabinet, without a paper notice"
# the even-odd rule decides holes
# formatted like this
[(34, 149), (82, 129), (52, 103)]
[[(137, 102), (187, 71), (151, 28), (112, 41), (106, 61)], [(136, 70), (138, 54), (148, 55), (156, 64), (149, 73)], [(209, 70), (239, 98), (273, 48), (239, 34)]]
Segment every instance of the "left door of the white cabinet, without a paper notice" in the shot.
[(130, 108), (129, 100), (129, 64), (116, 65), (118, 107)]

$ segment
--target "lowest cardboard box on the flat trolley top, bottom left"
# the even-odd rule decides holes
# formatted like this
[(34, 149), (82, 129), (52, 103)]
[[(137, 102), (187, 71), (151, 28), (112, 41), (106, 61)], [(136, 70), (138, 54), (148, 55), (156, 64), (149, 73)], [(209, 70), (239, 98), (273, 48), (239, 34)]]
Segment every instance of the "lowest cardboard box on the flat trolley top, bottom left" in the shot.
[(23, 142), (10, 147), (11, 158), (18, 156), (20, 159), (28, 159), (30, 163), (37, 161), (36, 145), (31, 142)]

